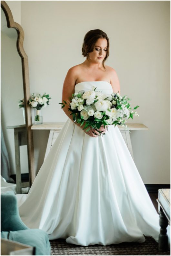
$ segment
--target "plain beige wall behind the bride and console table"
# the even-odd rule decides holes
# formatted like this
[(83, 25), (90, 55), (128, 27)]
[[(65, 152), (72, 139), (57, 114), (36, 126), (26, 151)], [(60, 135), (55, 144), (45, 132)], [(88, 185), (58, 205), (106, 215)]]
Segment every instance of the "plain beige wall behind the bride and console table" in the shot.
[[(106, 64), (116, 69), (121, 95), (127, 94), (132, 106), (140, 106), (139, 117), (128, 121), (148, 127), (131, 132), (137, 169), (146, 184), (170, 183), (170, 2), (21, 1), (21, 26), (30, 91), (52, 97), (43, 109), (44, 122), (67, 119), (58, 103), (68, 69), (85, 60), (85, 33), (96, 28), (107, 33)], [(34, 132), (37, 170), (47, 136), (47, 131)]]

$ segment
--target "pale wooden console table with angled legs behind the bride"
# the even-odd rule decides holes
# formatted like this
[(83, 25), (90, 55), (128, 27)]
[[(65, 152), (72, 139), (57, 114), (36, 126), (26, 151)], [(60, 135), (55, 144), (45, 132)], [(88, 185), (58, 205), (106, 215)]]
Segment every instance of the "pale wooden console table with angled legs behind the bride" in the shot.
[[(56, 138), (58, 137), (59, 132), (63, 128), (64, 124), (65, 123), (43, 123), (43, 124), (32, 125), (32, 127), (31, 127), (32, 130), (50, 130), (44, 161), (45, 161), (51, 147), (53, 146)], [(128, 128), (130, 130), (148, 130), (148, 127), (146, 127), (144, 124), (126, 124), (126, 125), (128, 126)], [(126, 145), (129, 149), (129, 152), (131, 153), (132, 158), (134, 159), (131, 138), (130, 138), (130, 132), (125, 130), (120, 125), (118, 125), (117, 127), (119, 128), (119, 130), (126, 142)]]

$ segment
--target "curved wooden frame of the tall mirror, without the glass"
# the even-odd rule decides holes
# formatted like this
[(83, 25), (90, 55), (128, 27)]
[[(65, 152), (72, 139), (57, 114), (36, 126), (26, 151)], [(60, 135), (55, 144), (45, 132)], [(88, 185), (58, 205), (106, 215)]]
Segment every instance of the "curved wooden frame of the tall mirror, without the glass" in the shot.
[(34, 146), (33, 146), (33, 131), (31, 130), (32, 118), (31, 108), (27, 102), (30, 98), (30, 86), (29, 86), (29, 72), (28, 72), (28, 56), (26, 55), (23, 42), (24, 42), (24, 31), (23, 28), (16, 22), (14, 22), (13, 15), (9, 6), (5, 1), (1, 1), (1, 8), (3, 9), (8, 28), (15, 28), (17, 31), (17, 51), (21, 57), (22, 63), (22, 76), (23, 76), (23, 90), (24, 90), (24, 104), (25, 104), (25, 126), (27, 134), (27, 155), (28, 155), (28, 168), (29, 168), (29, 182), (30, 187), (35, 179), (35, 164), (34, 164)]

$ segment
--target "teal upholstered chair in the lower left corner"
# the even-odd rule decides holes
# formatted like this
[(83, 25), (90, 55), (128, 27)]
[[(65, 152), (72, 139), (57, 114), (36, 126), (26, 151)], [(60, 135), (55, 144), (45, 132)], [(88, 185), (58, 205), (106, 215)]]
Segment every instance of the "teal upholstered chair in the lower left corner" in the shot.
[(48, 234), (25, 226), (12, 191), (1, 194), (1, 237), (35, 247), (35, 255), (50, 255)]

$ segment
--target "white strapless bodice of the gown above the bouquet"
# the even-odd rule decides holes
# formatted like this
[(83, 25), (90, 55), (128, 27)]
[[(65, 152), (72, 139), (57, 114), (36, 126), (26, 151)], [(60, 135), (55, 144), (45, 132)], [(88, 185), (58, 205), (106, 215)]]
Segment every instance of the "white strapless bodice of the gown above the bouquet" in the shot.
[(86, 91), (86, 90), (94, 90), (96, 88), (96, 91), (101, 91), (102, 93), (113, 93), (113, 89), (111, 84), (109, 84), (106, 81), (85, 81), (80, 82), (75, 85), (75, 93)]

